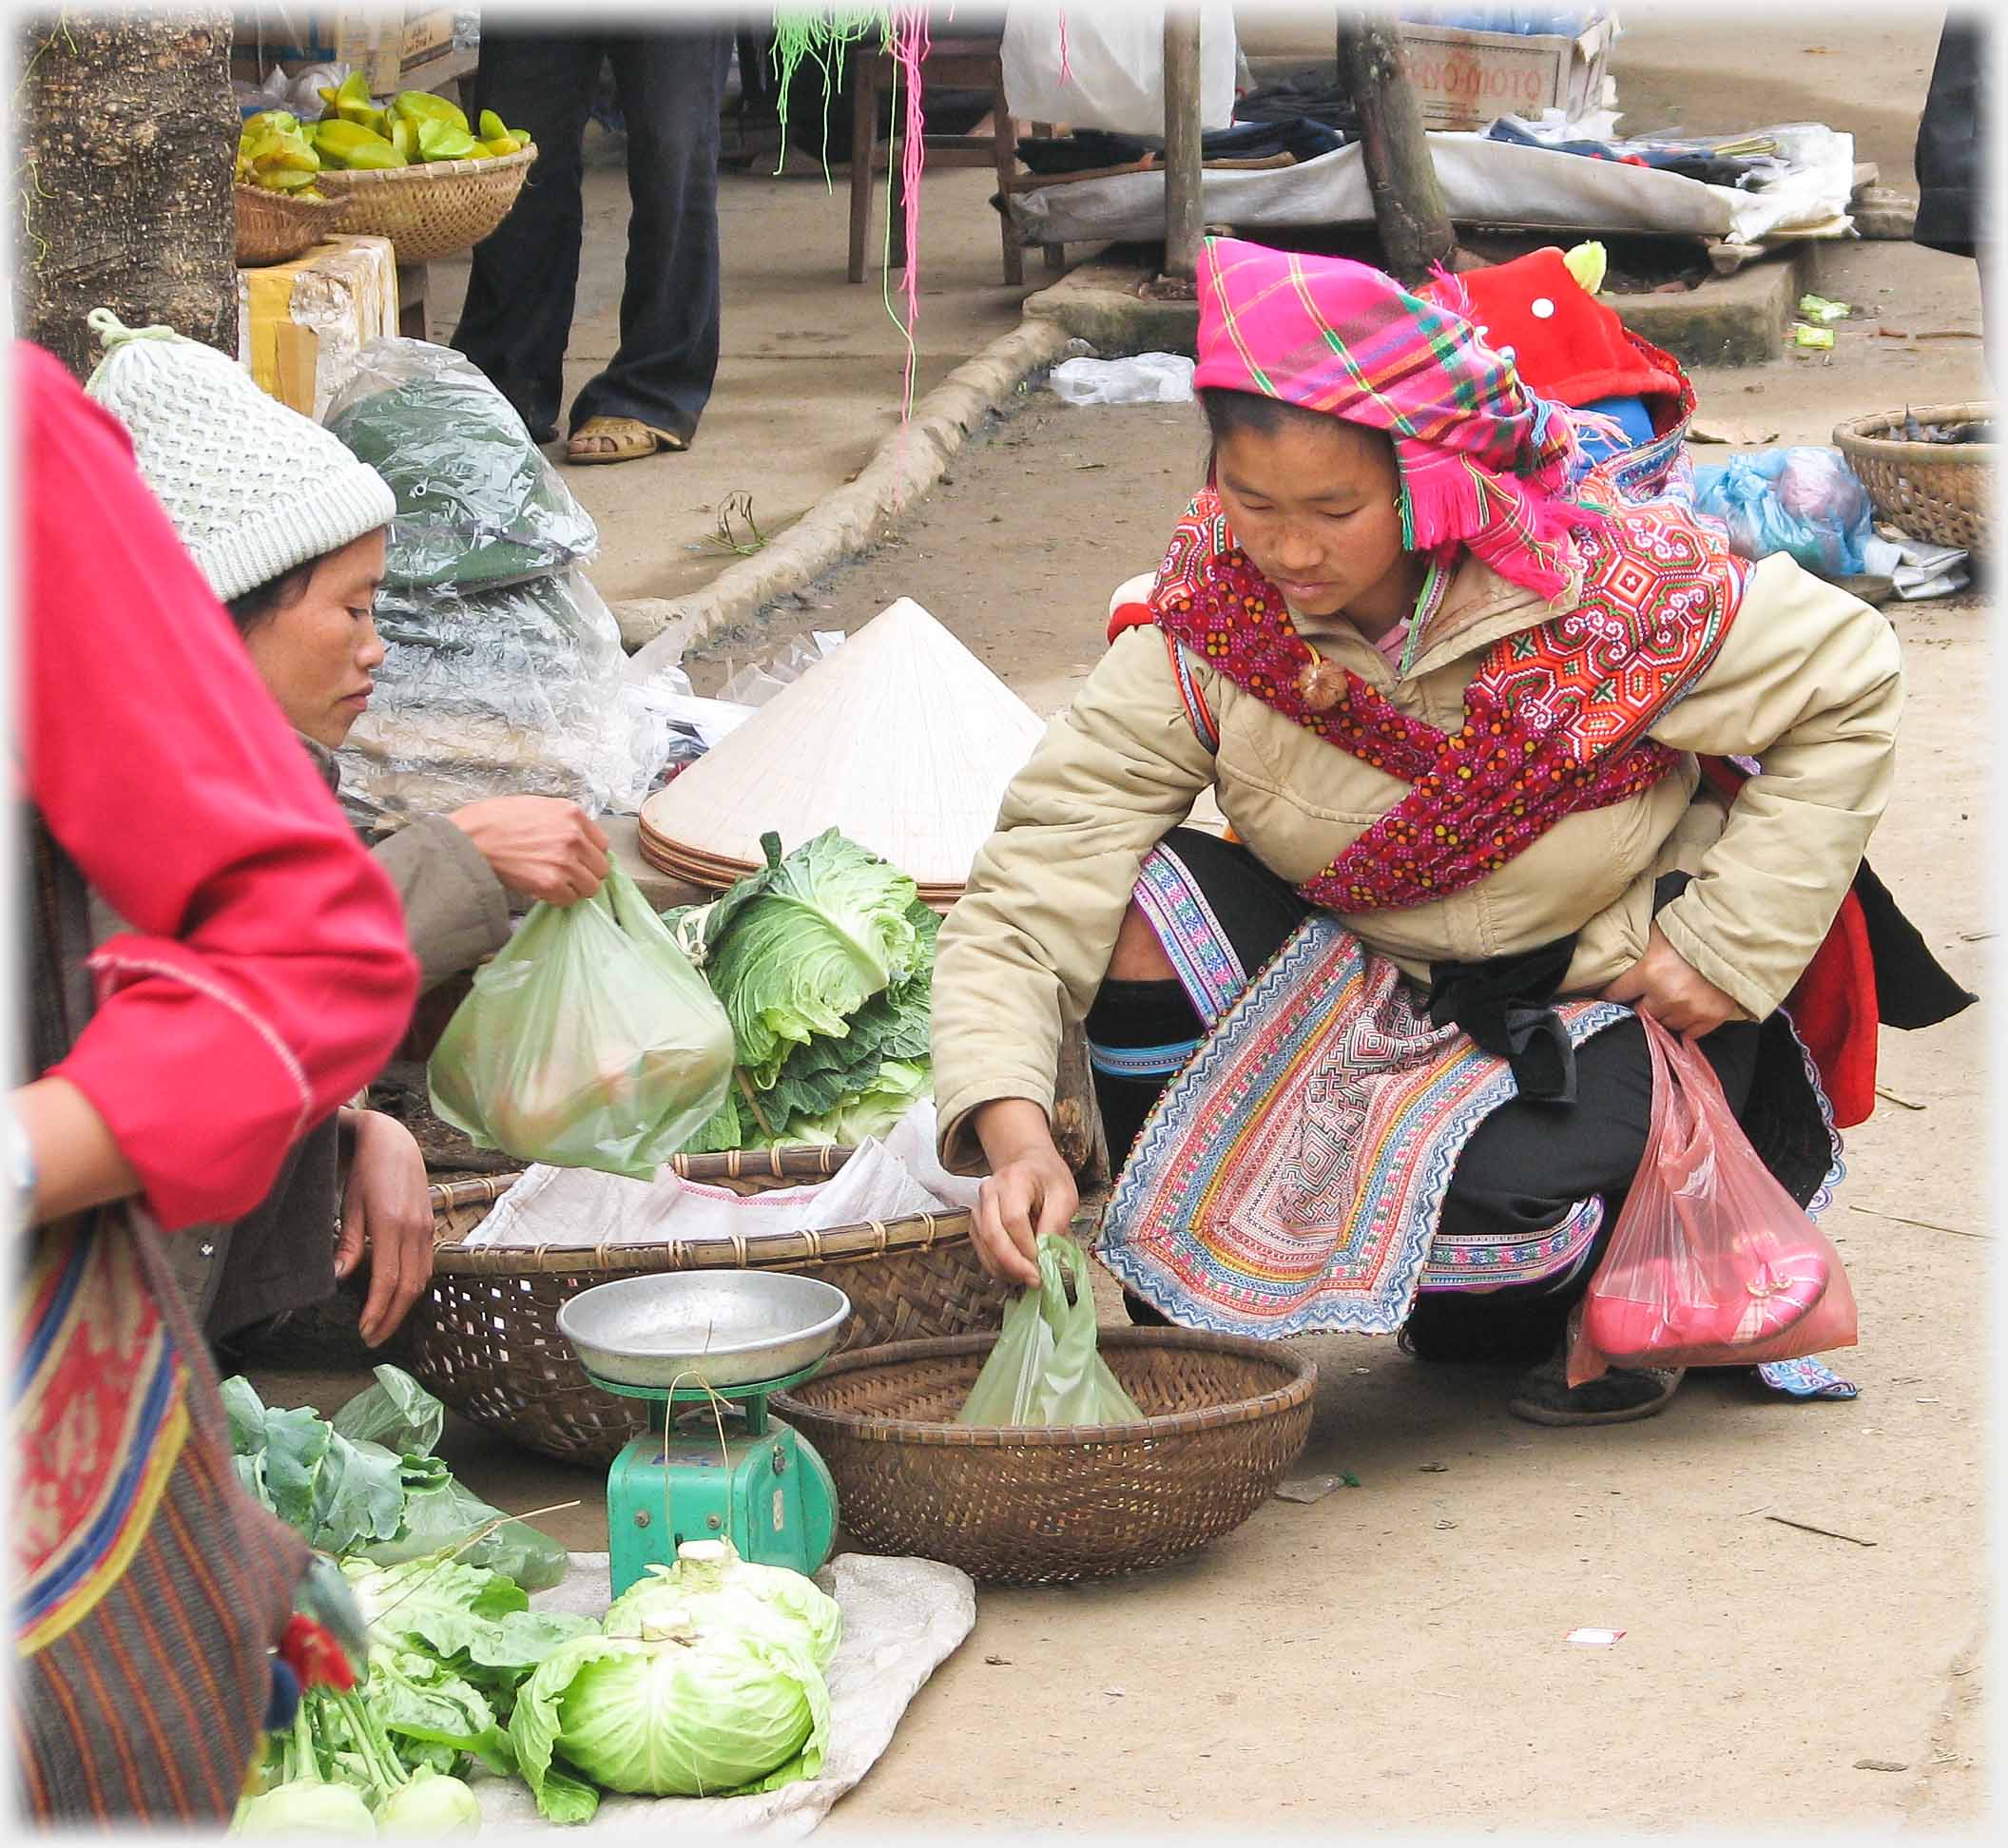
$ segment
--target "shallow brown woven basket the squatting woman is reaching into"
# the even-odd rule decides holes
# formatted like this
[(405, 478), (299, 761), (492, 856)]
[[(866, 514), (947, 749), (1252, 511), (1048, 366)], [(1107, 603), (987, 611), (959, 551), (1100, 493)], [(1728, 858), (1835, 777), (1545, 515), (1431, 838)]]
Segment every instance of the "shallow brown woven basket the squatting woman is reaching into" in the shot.
[(1273, 1492), (1311, 1432), (1317, 1368), (1289, 1348), (1183, 1328), (1104, 1328), (1143, 1424), (954, 1424), (996, 1336), (831, 1360), (775, 1412), (837, 1482), (847, 1545), (1058, 1585), (1165, 1565)]

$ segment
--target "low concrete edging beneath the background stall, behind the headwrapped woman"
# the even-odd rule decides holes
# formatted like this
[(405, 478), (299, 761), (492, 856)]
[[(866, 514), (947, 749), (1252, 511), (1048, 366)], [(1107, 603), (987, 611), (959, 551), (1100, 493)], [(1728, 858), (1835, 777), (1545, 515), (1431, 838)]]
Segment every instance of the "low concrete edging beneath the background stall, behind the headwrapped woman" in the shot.
[[(1610, 295), (1610, 305), (1643, 339), (1683, 366), (1763, 366), (1783, 352), (1801, 289), (1803, 245), (1711, 277), (1685, 295)], [(1090, 261), (1024, 301), (1028, 321), (1050, 321), (1098, 354), (1191, 354), (1199, 303), (1151, 301), (1141, 293), (1149, 271)]]

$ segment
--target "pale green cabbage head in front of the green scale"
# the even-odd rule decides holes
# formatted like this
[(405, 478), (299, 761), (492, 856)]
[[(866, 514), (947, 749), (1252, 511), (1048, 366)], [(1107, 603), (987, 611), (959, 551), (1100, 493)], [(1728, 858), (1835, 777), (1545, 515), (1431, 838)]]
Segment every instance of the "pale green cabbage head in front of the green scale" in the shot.
[(823, 1768), (829, 1689), (801, 1643), (673, 1611), (647, 1631), (560, 1645), (516, 1697), (516, 1768), (544, 1816), (598, 1806), (554, 1760), (631, 1796), (777, 1790)]

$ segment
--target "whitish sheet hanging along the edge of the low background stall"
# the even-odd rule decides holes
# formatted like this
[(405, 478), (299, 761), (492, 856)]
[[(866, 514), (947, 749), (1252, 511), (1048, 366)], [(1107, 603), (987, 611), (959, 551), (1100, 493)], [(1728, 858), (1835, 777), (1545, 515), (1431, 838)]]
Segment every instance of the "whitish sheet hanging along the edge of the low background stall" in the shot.
[[(1663, 231), (1759, 243), (1845, 237), (1853, 229), (1855, 143), (1819, 123), (1753, 131), (1779, 143), (1793, 173), (1761, 191), (1711, 187), (1681, 173), (1592, 161), (1484, 135), (1432, 133), (1444, 203), (1460, 223), (1556, 231)], [(1295, 167), (1205, 169), (1209, 223), (1243, 237), (1271, 225), (1367, 225), (1373, 199), (1359, 145)], [(1165, 175), (1056, 181), (1010, 197), (1026, 243), (1092, 243), (1165, 235)]]

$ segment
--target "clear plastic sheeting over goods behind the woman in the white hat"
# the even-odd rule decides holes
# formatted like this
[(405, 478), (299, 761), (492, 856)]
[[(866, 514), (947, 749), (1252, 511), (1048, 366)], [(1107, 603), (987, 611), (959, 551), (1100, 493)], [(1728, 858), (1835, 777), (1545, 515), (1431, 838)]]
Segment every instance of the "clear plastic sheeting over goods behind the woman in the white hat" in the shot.
[(349, 814), (382, 832), (490, 795), (639, 810), (671, 719), (586, 579), (590, 516), (508, 400), (460, 354), (380, 339), (327, 424), (398, 496), (386, 659), (341, 751)]

